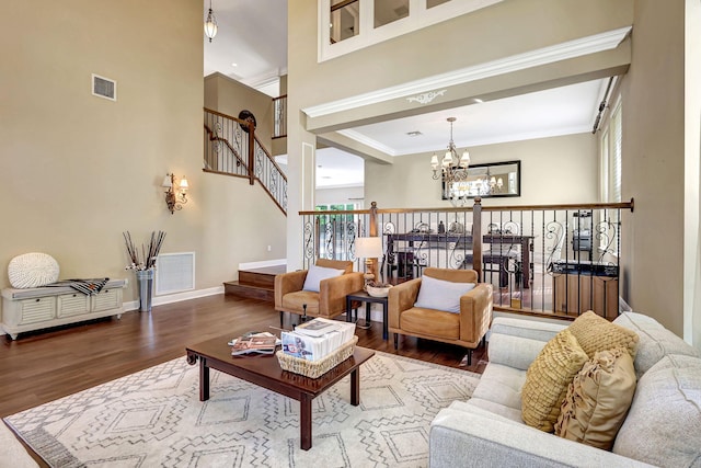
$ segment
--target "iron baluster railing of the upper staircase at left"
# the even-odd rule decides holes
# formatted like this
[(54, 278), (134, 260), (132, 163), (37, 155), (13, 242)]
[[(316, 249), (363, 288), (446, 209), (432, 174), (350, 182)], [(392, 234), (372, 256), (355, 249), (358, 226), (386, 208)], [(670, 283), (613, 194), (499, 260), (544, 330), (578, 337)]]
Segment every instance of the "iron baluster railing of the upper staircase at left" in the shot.
[(204, 171), (258, 181), (273, 202), (287, 214), (287, 178), (255, 136), (255, 127), (205, 109)]

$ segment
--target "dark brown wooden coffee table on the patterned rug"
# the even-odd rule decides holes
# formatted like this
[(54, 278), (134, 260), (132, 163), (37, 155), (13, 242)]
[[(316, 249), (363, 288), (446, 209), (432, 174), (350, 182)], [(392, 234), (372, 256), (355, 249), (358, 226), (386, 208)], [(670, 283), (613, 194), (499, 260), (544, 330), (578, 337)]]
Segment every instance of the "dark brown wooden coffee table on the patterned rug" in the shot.
[(311, 400), (350, 374), (350, 404), (360, 403), (360, 364), (375, 351), (355, 347), (350, 357), (319, 378), (304, 377), (280, 368), (275, 355), (232, 356), (230, 335), (187, 346), (187, 363), (199, 361), (199, 401), (209, 399), (209, 369), (217, 369), (299, 401), (299, 431), (302, 450), (311, 448)]

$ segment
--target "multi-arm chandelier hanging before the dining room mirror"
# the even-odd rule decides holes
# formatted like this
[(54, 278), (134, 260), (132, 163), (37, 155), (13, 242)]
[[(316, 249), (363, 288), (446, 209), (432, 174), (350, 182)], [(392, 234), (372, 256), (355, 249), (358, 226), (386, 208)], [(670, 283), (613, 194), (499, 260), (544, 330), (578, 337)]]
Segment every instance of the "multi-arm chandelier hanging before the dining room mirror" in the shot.
[[(434, 170), (433, 179), (437, 181), (443, 178), (444, 195), (450, 199), (455, 207), (462, 207), (468, 202), (470, 195), (470, 182), (468, 181), (468, 168), (470, 167), (470, 153), (466, 149), (461, 157), (458, 156), (458, 149), (452, 141), (452, 123), (456, 117), (448, 117), (450, 122), (450, 141), (448, 141), (448, 151), (438, 162), (438, 156), (434, 153), (430, 157), (430, 167)], [(440, 167), (440, 171), (438, 171)]]

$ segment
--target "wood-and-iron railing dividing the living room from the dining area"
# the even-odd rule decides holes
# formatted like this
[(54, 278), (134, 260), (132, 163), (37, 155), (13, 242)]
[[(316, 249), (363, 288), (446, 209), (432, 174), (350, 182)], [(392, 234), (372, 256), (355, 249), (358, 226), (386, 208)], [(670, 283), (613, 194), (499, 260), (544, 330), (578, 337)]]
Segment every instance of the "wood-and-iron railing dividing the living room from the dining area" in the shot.
[[(375, 204), (374, 204), (375, 205)], [(494, 285), (496, 310), (576, 317), (619, 311), (621, 213), (614, 204), (300, 212), (303, 263), (353, 260), (358, 237), (382, 237), (381, 279), (398, 283), (427, 266), (473, 269)]]

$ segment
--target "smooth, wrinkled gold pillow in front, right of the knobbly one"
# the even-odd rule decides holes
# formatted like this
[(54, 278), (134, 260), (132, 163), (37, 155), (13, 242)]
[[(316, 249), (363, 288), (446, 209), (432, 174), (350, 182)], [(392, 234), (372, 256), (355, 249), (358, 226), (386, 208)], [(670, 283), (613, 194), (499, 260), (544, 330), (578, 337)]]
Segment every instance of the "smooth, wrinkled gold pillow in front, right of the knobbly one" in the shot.
[(570, 384), (555, 434), (610, 450), (634, 395), (635, 368), (627, 350), (599, 351)]

